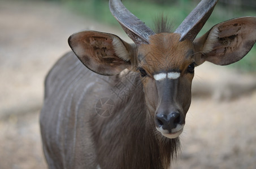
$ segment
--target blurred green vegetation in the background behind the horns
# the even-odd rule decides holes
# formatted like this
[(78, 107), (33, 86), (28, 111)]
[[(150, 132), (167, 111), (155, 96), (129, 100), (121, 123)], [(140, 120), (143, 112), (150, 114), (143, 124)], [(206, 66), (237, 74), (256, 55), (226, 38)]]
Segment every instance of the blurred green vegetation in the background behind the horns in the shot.
[[(77, 12), (80, 15), (93, 17), (106, 24), (118, 25), (118, 22), (114, 19), (109, 11), (109, 1), (107, 0), (55, 0), (64, 4), (67, 8)], [(154, 27), (154, 20), (160, 14), (167, 15), (172, 21), (173, 29), (184, 20), (190, 11), (196, 7), (199, 1), (159, 1), (161, 3), (153, 2), (152, 0), (124, 0), (125, 7), (128, 8), (134, 15), (145, 22), (150, 28)], [(256, 16), (255, 10), (242, 9), (237, 6), (227, 6), (222, 3), (218, 3), (212, 13), (210, 19), (199, 35), (207, 32), (212, 26), (222, 21), (232, 19), (234, 17), (241, 16)], [(232, 68), (244, 72), (256, 72), (256, 47), (249, 52), (249, 54), (239, 61), (231, 65)]]

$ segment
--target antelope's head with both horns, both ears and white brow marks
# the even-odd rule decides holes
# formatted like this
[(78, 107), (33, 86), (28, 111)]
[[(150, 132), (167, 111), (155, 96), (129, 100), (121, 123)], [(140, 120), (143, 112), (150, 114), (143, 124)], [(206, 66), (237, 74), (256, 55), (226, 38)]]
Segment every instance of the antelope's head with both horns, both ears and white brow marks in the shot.
[(68, 43), (93, 72), (102, 75), (116, 75), (124, 69), (140, 72), (147, 109), (154, 117), (155, 127), (173, 139), (183, 131), (194, 67), (205, 61), (217, 65), (235, 63), (250, 51), (256, 40), (256, 17), (225, 21), (196, 38), (217, 2), (202, 0), (170, 33), (161, 32), (164, 28), (153, 32), (122, 2), (110, 0), (110, 11), (134, 43), (124, 42), (114, 34), (93, 31), (73, 34)]

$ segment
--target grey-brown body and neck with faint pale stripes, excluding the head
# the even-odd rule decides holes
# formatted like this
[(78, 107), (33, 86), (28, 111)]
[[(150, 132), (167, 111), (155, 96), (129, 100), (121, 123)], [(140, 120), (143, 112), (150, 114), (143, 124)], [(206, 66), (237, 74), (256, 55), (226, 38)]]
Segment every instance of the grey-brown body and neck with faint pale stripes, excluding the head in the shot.
[[(132, 83), (125, 85), (134, 92), (120, 98), (111, 90), (115, 90), (112, 84), (127, 81), (129, 73), (134, 75), (129, 78)], [(70, 52), (47, 75), (45, 87), (40, 119), (50, 168), (167, 168), (179, 149), (179, 139), (158, 137), (154, 120), (146, 121), (154, 117), (146, 117), (149, 113), (138, 73), (98, 75)], [(109, 117), (96, 112), (102, 97), (115, 103)]]

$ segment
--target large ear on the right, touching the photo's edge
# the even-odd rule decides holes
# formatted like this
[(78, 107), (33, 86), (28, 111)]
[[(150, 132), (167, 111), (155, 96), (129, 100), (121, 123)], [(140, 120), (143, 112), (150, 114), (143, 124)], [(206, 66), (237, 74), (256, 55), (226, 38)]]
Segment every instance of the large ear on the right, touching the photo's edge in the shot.
[(242, 59), (256, 41), (256, 17), (239, 17), (213, 26), (209, 32), (194, 40), (197, 64), (210, 61), (228, 65)]

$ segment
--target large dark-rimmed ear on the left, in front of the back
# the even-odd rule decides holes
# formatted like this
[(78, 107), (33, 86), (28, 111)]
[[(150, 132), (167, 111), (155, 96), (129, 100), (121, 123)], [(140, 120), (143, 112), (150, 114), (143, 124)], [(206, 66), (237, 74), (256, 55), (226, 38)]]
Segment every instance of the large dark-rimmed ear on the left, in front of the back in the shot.
[(131, 66), (132, 45), (109, 33), (84, 31), (72, 34), (68, 44), (79, 60), (102, 75), (115, 75)]

